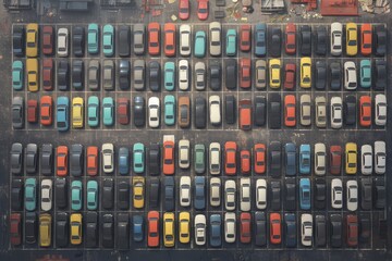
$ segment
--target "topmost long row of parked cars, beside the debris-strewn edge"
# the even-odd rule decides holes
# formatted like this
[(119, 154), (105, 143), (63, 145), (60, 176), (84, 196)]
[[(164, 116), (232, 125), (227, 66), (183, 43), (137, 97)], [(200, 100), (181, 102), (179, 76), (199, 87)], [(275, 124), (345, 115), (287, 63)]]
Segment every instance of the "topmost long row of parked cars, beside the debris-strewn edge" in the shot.
[[(162, 32), (161, 25), (157, 22), (149, 23), (147, 32), (144, 24), (135, 24), (132, 27), (133, 36), (128, 25), (120, 25), (115, 33), (115, 27), (111, 24), (103, 25), (102, 29), (98, 24), (89, 24), (86, 37), (84, 26), (74, 26), (70, 34), (68, 27), (59, 27), (56, 33), (51, 25), (45, 25), (40, 38), (38, 24), (27, 24), (26, 28), (14, 26), (13, 53), (17, 57), (26, 54), (28, 58), (35, 58), (39, 52), (52, 55), (56, 50), (58, 57), (69, 57), (71, 46), (75, 57), (83, 57), (86, 46), (88, 54), (100, 53), (101, 47), (105, 57), (115, 55), (117, 46), (120, 57), (130, 57), (133, 47), (136, 55), (146, 52), (150, 55), (160, 55), (162, 49), (167, 57), (175, 57), (177, 52), (188, 57), (193, 52), (196, 58), (205, 58), (207, 46), (212, 57), (222, 55), (223, 51), (225, 55), (234, 57), (238, 50), (250, 52), (252, 47), (256, 57), (262, 57), (267, 54), (267, 46), (269, 55), (274, 58), (281, 57), (282, 46), (286, 54), (298, 53), (303, 57), (310, 57), (313, 49), (318, 55), (330, 53), (334, 57), (342, 55), (343, 49), (350, 57), (359, 52), (362, 55), (373, 53), (379, 57), (387, 53), (387, 28), (382, 24), (358, 26), (355, 23), (347, 23), (343, 30), (341, 23), (332, 23), (330, 26), (315, 26), (313, 33), (310, 25), (296, 26), (289, 23), (285, 25), (284, 35), (280, 26), (267, 27), (264, 23), (254, 26), (245, 24), (240, 26), (238, 33), (236, 28), (228, 28), (223, 40), (223, 28), (219, 22), (210, 23), (207, 33), (203, 29), (196, 30), (195, 36), (188, 24), (181, 24), (179, 33), (173, 23), (166, 23)], [(329, 27), (330, 33), (328, 33)], [(100, 32), (102, 32), (101, 36)], [(194, 46), (192, 41), (195, 42)]]

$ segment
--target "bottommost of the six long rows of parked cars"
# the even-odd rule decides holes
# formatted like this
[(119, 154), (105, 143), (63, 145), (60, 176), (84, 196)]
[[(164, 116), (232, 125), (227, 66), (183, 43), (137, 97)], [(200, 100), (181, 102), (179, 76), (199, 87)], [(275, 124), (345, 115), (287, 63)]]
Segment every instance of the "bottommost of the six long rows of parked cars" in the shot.
[(340, 213), (225, 212), (209, 216), (196, 214), (191, 219), (186, 211), (179, 214), (149, 211), (146, 216), (133, 214), (132, 217), (128, 213), (103, 213), (98, 217), (97, 212), (90, 211), (58, 212), (56, 220), (49, 213), (41, 213), (38, 220), (39, 223), (35, 213), (26, 213), (23, 223), (21, 213), (11, 213), (11, 245), (22, 245), (23, 240), (25, 247), (38, 244), (66, 248), (83, 244), (86, 248), (113, 248), (117, 243), (117, 248), (128, 249), (130, 244), (136, 248), (144, 247), (143, 243), (151, 248), (172, 248), (185, 247), (192, 241), (196, 247), (219, 248), (238, 241), (244, 247), (254, 244), (256, 247), (340, 248), (368, 243), (372, 231), (369, 215)]

